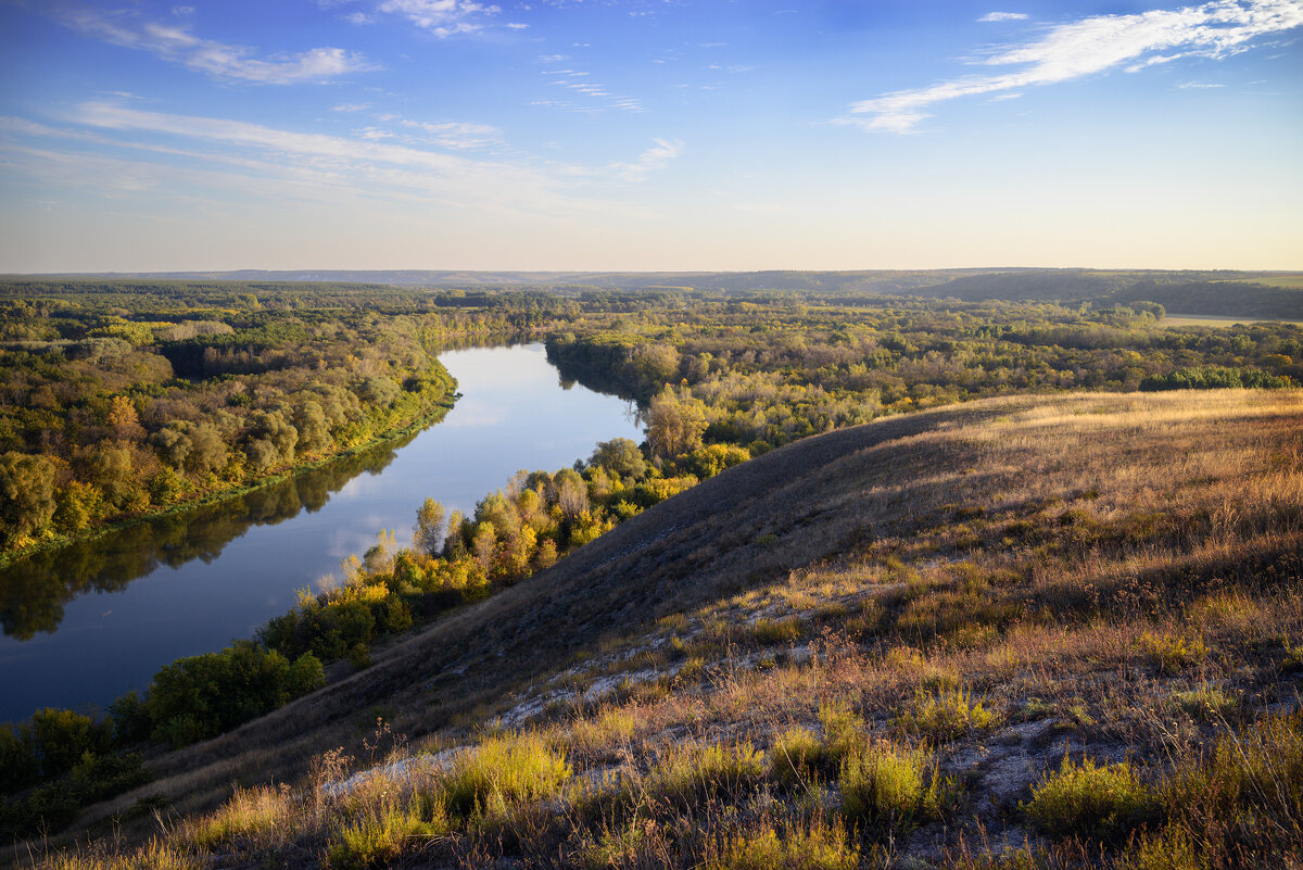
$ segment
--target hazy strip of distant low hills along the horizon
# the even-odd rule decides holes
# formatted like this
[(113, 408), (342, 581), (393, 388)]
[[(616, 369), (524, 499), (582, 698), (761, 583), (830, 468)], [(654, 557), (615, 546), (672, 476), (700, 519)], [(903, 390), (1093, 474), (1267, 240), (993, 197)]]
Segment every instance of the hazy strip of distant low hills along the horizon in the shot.
[[(13, 276), (16, 279), (38, 276)], [(1016, 300), (1130, 305), (1158, 302), (1169, 313), (1303, 319), (1303, 272), (1105, 271), (968, 268), (846, 272), (477, 272), (302, 270), (233, 272), (106, 272), (39, 276), (78, 280), (313, 281), (430, 289), (550, 288), (576, 290), (696, 289), (726, 293), (800, 290), (825, 297), (921, 296), (964, 301)]]

